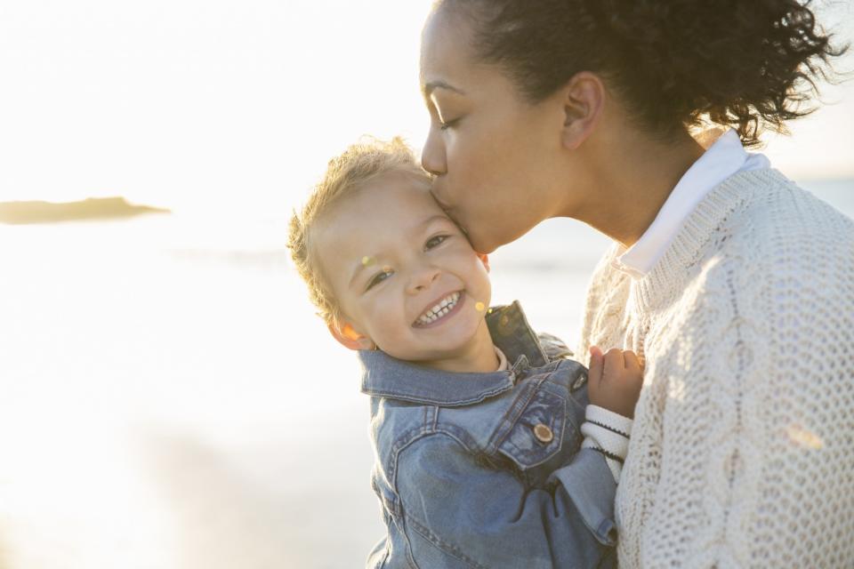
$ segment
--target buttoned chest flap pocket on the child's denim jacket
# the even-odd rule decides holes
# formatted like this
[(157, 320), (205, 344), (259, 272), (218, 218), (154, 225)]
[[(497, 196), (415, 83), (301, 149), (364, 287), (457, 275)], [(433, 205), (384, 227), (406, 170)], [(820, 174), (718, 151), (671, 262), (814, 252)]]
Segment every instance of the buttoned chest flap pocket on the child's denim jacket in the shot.
[(564, 397), (538, 385), (531, 388), (533, 395), (526, 394), (527, 404), (511, 418), (510, 432), (498, 445), (498, 451), (522, 470), (539, 466), (560, 452), (567, 421)]

